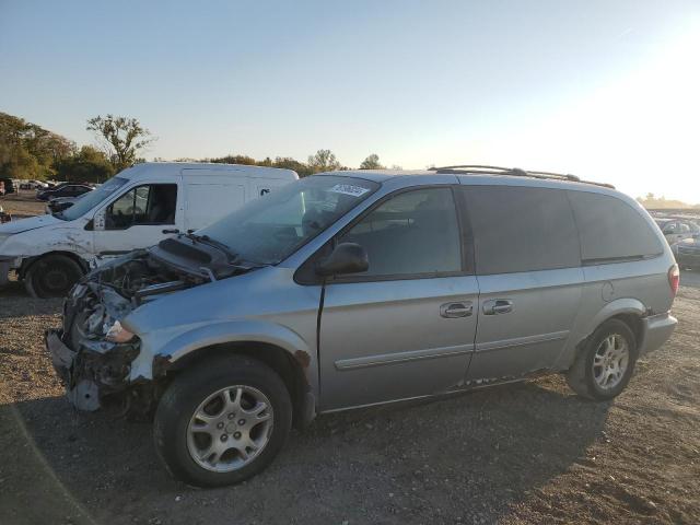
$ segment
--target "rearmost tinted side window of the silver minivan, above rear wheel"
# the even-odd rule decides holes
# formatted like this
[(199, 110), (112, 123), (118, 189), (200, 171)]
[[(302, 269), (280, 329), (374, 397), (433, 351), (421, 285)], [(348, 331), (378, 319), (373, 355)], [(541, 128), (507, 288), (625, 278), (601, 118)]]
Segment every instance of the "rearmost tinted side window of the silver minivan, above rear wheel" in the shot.
[(615, 197), (569, 191), (584, 265), (658, 255), (663, 247), (644, 218)]

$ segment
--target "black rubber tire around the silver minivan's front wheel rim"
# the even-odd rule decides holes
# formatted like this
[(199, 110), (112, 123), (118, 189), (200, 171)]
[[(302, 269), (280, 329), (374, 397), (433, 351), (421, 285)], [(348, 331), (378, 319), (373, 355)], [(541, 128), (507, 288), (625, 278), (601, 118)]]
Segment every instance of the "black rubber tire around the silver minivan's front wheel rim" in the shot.
[[(208, 470), (191, 457), (188, 425), (209, 396), (228, 386), (258, 389), (272, 405), (271, 433), (250, 463), (226, 472)], [(196, 487), (238, 483), (264, 470), (284, 445), (292, 427), (292, 401), (280, 376), (261, 362), (242, 355), (213, 358), (183, 372), (160, 400), (153, 421), (155, 450), (171, 475)]]

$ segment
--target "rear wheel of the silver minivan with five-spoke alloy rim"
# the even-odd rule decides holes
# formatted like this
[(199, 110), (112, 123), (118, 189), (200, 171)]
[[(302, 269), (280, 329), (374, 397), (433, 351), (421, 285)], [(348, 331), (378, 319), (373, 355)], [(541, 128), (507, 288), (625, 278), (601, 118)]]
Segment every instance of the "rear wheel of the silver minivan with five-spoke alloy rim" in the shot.
[(634, 334), (626, 323), (610, 319), (588, 338), (567, 373), (567, 382), (582, 397), (612, 399), (629, 383), (635, 361)]

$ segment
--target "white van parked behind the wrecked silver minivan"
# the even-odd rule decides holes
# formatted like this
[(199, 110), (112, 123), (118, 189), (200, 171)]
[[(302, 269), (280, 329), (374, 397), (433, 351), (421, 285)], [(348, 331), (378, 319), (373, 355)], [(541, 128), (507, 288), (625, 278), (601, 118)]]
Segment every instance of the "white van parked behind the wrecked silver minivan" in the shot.
[(137, 164), (60, 213), (1, 224), (0, 285), (15, 270), (32, 295), (63, 296), (105, 260), (207, 226), (298, 178), (262, 166)]

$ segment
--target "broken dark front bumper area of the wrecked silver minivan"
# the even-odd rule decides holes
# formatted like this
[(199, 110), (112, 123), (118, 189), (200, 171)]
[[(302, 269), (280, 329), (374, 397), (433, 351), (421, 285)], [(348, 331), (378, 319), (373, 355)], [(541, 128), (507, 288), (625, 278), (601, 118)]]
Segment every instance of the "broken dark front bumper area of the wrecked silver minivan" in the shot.
[(130, 386), (131, 361), (139, 354), (139, 343), (82, 341), (72, 349), (62, 329), (46, 332), (46, 349), (71, 404), (85, 411), (97, 410), (105, 398), (118, 397)]

